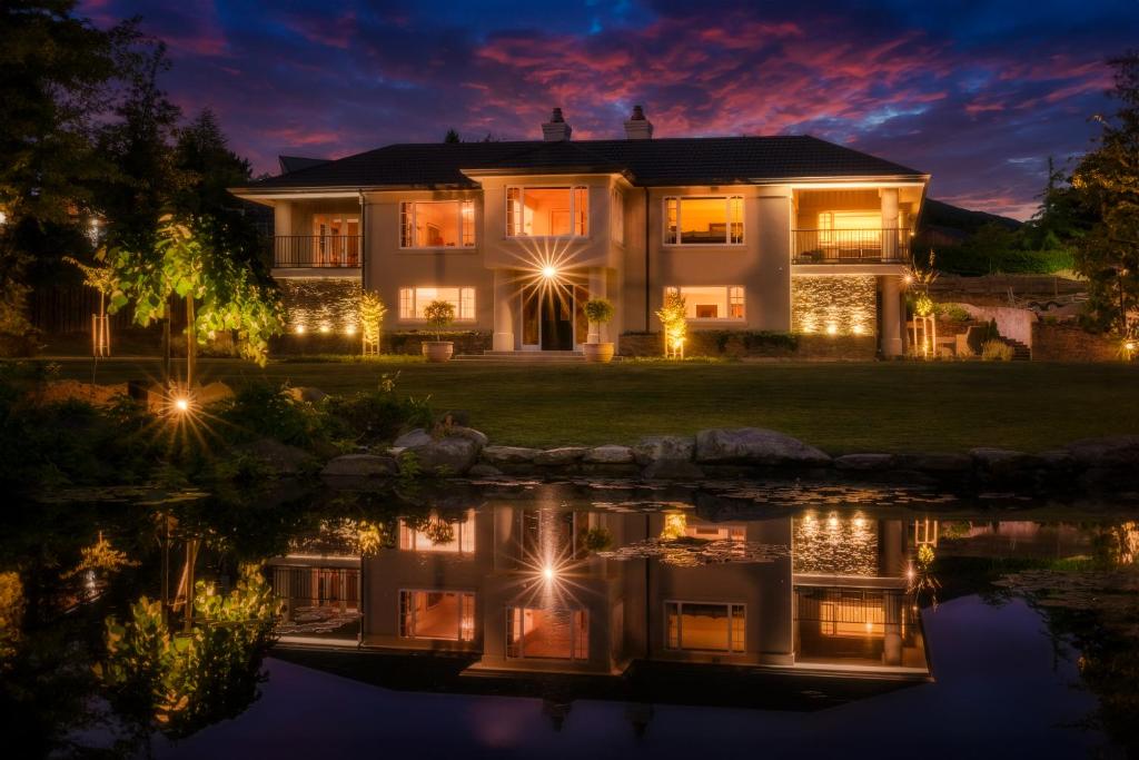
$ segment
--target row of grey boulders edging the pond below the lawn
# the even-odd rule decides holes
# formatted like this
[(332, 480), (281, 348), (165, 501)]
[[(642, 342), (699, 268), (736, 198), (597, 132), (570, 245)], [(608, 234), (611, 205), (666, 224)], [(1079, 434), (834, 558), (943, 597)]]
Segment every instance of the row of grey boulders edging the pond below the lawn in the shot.
[(413, 430), (396, 439), (387, 456), (345, 455), (329, 460), (321, 471), (321, 476), (333, 482), (401, 474), (546, 480), (587, 475), (686, 482), (810, 477), (977, 493), (1120, 492), (1139, 489), (1139, 435), (1085, 439), (1042, 453), (977, 448), (968, 453), (831, 457), (789, 435), (759, 427), (705, 430), (691, 438), (652, 435), (631, 447), (531, 449), (492, 446), (476, 430), (452, 426), (435, 435)]

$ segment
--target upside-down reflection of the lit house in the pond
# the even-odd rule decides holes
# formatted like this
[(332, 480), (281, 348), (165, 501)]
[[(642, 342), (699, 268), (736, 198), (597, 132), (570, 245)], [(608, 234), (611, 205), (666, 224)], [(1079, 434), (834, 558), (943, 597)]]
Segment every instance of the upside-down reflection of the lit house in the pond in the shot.
[(925, 678), (911, 544), (902, 521), (847, 512), (710, 522), (551, 500), (444, 530), (401, 521), (393, 548), (359, 561), (359, 646), (460, 654), (468, 673), (653, 662)]

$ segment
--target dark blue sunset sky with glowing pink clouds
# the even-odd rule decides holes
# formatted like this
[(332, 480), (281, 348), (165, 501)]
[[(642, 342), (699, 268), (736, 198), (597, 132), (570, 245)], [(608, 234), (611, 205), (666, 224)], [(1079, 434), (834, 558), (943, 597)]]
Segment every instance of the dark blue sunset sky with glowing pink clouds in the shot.
[(1030, 216), (1047, 161), (1091, 145), (1139, 0), (81, 0), (166, 41), (164, 87), (213, 109), (255, 173), (392, 142), (813, 134), (933, 175), (929, 195)]

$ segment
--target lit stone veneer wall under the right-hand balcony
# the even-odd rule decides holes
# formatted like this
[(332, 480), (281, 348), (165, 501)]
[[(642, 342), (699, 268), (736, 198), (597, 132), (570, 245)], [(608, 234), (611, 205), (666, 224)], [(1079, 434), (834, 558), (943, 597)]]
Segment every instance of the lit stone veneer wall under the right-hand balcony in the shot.
[(874, 335), (877, 288), (874, 275), (792, 277), (792, 332), (805, 335)]

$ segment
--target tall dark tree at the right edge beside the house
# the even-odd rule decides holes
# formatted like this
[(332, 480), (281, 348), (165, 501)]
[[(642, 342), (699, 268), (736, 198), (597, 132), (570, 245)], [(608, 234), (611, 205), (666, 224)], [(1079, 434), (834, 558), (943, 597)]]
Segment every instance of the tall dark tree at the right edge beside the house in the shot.
[(1076, 271), (1089, 280), (1088, 318), (1103, 329), (1131, 335), (1139, 308), (1139, 51), (1113, 58), (1120, 108), (1096, 116), (1098, 146), (1077, 164), (1072, 188), (1095, 214), (1076, 242)]

